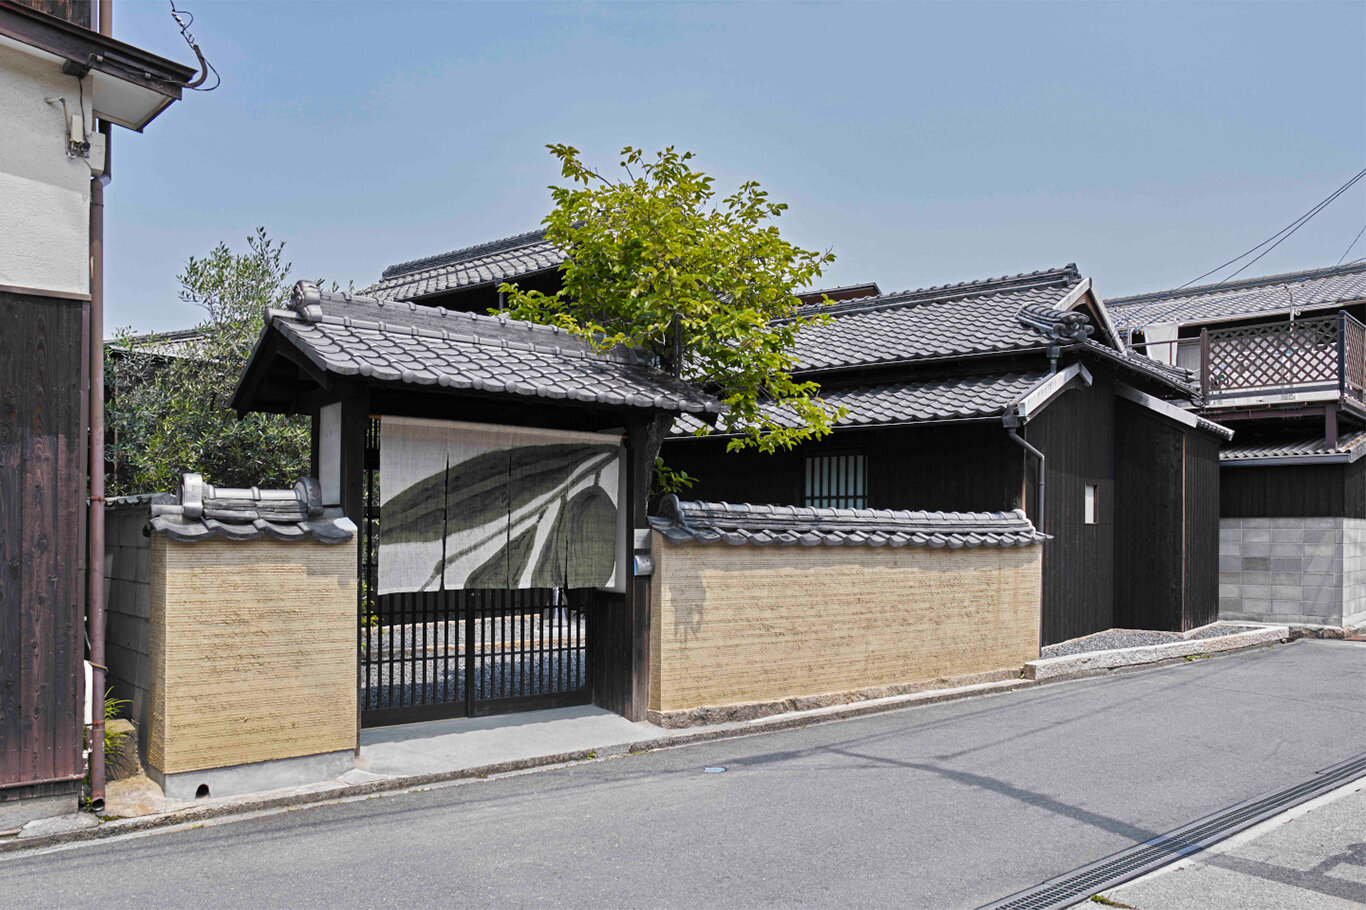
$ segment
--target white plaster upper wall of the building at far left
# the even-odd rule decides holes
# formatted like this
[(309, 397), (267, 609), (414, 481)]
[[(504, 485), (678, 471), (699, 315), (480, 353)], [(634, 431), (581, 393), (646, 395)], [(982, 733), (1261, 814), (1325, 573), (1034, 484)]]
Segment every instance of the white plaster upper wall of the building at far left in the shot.
[[(75, 77), (60, 64), (0, 45), (0, 284), (90, 291), (90, 167), (67, 157), (64, 97), (78, 109)], [(85, 85), (86, 131), (94, 126)]]

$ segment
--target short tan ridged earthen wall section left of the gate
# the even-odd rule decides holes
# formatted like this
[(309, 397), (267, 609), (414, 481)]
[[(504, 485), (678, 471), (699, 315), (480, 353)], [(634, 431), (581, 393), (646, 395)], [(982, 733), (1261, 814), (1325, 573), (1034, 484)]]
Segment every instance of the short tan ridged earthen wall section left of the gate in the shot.
[(163, 773), (355, 747), (355, 545), (152, 540)]

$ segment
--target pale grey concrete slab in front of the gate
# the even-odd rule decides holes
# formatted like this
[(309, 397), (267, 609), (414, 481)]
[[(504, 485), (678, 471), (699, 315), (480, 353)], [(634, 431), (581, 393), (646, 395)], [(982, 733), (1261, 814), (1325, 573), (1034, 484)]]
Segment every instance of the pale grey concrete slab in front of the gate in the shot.
[(596, 750), (628, 752), (658, 739), (660, 728), (596, 708), (555, 708), (489, 717), (429, 720), (361, 731), (355, 767), (373, 775), (408, 777), (510, 761)]

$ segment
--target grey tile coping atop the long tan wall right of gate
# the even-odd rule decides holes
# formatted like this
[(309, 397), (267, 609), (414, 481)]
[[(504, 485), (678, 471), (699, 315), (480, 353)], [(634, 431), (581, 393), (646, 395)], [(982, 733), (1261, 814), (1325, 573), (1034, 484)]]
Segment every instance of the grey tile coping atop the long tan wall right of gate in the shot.
[(735, 547), (1029, 547), (1048, 540), (1024, 512), (921, 512), (660, 501), (650, 527), (672, 542)]

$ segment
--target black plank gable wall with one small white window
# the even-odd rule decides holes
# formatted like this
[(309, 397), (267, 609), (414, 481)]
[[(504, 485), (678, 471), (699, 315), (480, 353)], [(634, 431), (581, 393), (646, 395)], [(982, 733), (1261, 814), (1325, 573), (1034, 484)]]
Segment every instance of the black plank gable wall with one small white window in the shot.
[[(1111, 629), (1115, 618), (1115, 395), (1097, 370), (1096, 384), (1064, 392), (1024, 428), (1048, 462), (1044, 530), (1044, 630), (1050, 645)], [(1023, 450), (1020, 451), (1023, 458)], [(1086, 484), (1098, 489), (1098, 522), (1085, 522)], [(1024, 480), (1034, 503), (1034, 467)]]

